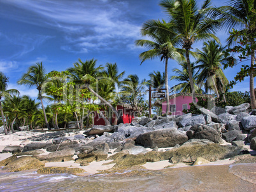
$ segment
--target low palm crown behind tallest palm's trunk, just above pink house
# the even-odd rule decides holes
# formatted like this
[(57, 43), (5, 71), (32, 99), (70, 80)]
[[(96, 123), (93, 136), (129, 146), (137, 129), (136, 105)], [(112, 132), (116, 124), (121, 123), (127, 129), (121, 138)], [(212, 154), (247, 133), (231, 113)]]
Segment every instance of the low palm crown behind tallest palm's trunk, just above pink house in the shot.
[[(171, 87), (171, 92), (174, 93), (192, 93), (191, 86), (190, 86), (190, 81), (189, 81), (189, 74), (188, 74), (188, 65), (187, 63), (180, 64), (182, 67), (182, 70), (180, 69), (173, 69), (173, 72), (176, 73), (175, 76), (171, 76), (170, 80), (176, 80), (180, 81), (178, 85), (174, 85)], [(196, 79), (198, 77), (198, 70), (196, 70), (194, 62), (191, 63), (191, 72), (192, 72), (192, 77), (193, 77), (193, 82), (194, 82), (194, 88), (196, 93), (203, 93), (203, 90), (199, 88), (196, 84)]]

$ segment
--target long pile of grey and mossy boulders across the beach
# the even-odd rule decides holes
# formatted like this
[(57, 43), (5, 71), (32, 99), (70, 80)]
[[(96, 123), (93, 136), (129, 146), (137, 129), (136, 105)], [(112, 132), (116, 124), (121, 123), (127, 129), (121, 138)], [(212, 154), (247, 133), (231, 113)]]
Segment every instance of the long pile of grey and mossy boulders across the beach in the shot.
[[(83, 134), (78, 132), (75, 135), (56, 137), (52, 142), (34, 142), (24, 147), (7, 146), (3, 152), (16, 155), (0, 162), (0, 165), (9, 171), (41, 168), (48, 161), (75, 160), (74, 155), (78, 156), (76, 163), (82, 166), (92, 161), (111, 159), (116, 167), (143, 165), (160, 160), (199, 165), (203, 160), (232, 158), (249, 153), (243, 148), (245, 144), (250, 143), (250, 148), (256, 150), (256, 113), (248, 113), (248, 107), (249, 104), (242, 104), (225, 109), (213, 107), (211, 111), (201, 108), (203, 114), (199, 115), (155, 116), (153, 119), (145, 117), (131, 124), (94, 126)], [(232, 146), (221, 146), (224, 140)], [(159, 151), (161, 147), (173, 149)], [(46, 149), (50, 153), (43, 155), (39, 149)], [(110, 149), (115, 149), (117, 153), (108, 158)], [(17, 158), (21, 155), (29, 155), (29, 158)], [(31, 166), (22, 167), (25, 161)], [(48, 172), (48, 169), (40, 170)]]

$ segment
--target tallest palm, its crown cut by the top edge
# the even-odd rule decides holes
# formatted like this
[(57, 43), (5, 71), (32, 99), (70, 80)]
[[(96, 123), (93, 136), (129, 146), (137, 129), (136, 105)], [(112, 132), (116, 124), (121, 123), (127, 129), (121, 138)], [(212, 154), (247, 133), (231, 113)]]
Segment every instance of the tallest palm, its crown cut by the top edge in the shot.
[(188, 75), (193, 94), (193, 102), (196, 103), (194, 81), (191, 71), (189, 51), (193, 43), (210, 38), (218, 41), (215, 32), (221, 27), (221, 20), (212, 20), (208, 18), (210, 0), (204, 1), (201, 9), (198, 9), (194, 0), (163, 0), (160, 6), (164, 8), (171, 20), (168, 30), (162, 28), (169, 34), (175, 36), (175, 40), (185, 49), (185, 55), (188, 65)]

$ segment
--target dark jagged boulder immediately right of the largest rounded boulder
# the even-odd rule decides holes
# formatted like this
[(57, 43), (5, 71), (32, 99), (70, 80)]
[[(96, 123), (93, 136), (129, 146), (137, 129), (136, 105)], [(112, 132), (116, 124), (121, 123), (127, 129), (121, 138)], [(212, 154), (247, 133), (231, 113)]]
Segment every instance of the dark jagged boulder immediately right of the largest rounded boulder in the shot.
[(222, 143), (220, 134), (215, 128), (207, 125), (194, 125), (187, 132), (189, 139), (208, 139), (215, 143)]

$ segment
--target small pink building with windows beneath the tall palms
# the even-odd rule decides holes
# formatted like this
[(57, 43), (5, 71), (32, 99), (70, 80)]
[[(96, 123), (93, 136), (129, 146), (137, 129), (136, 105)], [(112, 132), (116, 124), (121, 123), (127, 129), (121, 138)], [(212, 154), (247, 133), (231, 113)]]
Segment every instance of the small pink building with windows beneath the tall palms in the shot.
[[(196, 94), (196, 96), (203, 96), (203, 94)], [(176, 93), (169, 96), (170, 112), (173, 115), (182, 115), (183, 109), (190, 109), (190, 103), (192, 103), (192, 93)], [(196, 98), (196, 102), (198, 99)], [(161, 99), (162, 102), (162, 114), (166, 113), (166, 98)]]

